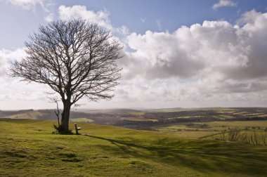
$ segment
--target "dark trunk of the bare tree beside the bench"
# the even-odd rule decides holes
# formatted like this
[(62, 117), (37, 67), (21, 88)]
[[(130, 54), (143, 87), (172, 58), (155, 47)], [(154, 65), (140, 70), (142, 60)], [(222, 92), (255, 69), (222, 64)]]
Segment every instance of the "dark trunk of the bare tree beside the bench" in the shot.
[(63, 101), (63, 112), (61, 113), (60, 133), (70, 133), (69, 120), (70, 120), (70, 100)]

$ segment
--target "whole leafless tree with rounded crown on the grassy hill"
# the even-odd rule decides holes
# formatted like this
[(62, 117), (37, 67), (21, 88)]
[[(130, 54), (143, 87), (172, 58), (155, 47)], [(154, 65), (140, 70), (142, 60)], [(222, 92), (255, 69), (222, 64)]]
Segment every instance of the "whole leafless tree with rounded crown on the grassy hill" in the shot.
[(122, 46), (110, 32), (84, 20), (40, 26), (25, 43), (27, 56), (11, 63), (11, 77), (48, 85), (63, 103), (60, 133), (69, 132), (70, 108), (83, 97), (110, 99), (121, 74)]

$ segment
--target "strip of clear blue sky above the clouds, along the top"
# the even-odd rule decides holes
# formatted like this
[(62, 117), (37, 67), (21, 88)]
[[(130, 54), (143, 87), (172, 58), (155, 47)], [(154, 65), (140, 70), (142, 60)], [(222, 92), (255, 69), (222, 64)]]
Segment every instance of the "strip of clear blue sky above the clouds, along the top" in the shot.
[[(23, 0), (22, 0), (23, 1)], [(119, 27), (125, 25), (130, 32), (143, 34), (147, 30), (154, 32), (173, 32), (182, 25), (190, 26), (195, 23), (202, 23), (204, 20), (228, 20), (236, 23), (242, 13), (255, 9), (265, 12), (267, 1), (242, 0), (235, 1), (233, 7), (221, 7), (216, 10), (212, 8), (218, 1), (47, 1), (47, 10), (57, 13), (58, 6), (86, 6), (90, 11), (103, 11), (110, 13), (112, 25)], [(8, 1), (2, 0), (0, 6), (1, 25), (0, 48), (22, 47), (30, 33), (37, 30), (39, 24), (45, 24), (44, 11), (39, 4), (34, 10), (25, 11), (20, 6), (12, 6)], [(56, 15), (55, 15), (55, 18)], [(142, 22), (142, 20), (145, 22)], [(160, 23), (160, 28), (157, 25)]]

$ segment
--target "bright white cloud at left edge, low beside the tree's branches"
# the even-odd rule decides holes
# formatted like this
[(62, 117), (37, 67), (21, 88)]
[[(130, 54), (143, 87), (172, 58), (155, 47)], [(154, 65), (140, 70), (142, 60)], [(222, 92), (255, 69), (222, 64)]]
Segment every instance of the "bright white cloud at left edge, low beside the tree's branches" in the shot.
[[(9, 63), (21, 60), (25, 57), (24, 48), (15, 50), (0, 49), (0, 105), (1, 109), (30, 109), (50, 106), (46, 92), (48, 87), (41, 84), (26, 84), (20, 82), (19, 78), (7, 76)], [(38, 104), (37, 104), (38, 103)]]

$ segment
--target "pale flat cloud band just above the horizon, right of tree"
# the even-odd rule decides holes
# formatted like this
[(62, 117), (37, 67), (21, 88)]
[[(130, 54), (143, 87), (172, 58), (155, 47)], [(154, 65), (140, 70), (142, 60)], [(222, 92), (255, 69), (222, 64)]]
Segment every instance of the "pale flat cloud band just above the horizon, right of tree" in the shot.
[[(257, 83), (256, 83), (257, 84)], [(265, 83), (266, 84), (266, 83)], [(217, 107), (217, 106), (264, 106), (267, 104), (267, 91), (238, 91), (220, 88), (212, 81), (189, 81), (183, 83), (177, 78), (148, 81), (141, 77), (122, 81), (115, 98), (108, 107)], [(247, 86), (232, 86), (233, 89), (246, 89)], [(120, 103), (120, 104), (119, 104)]]

